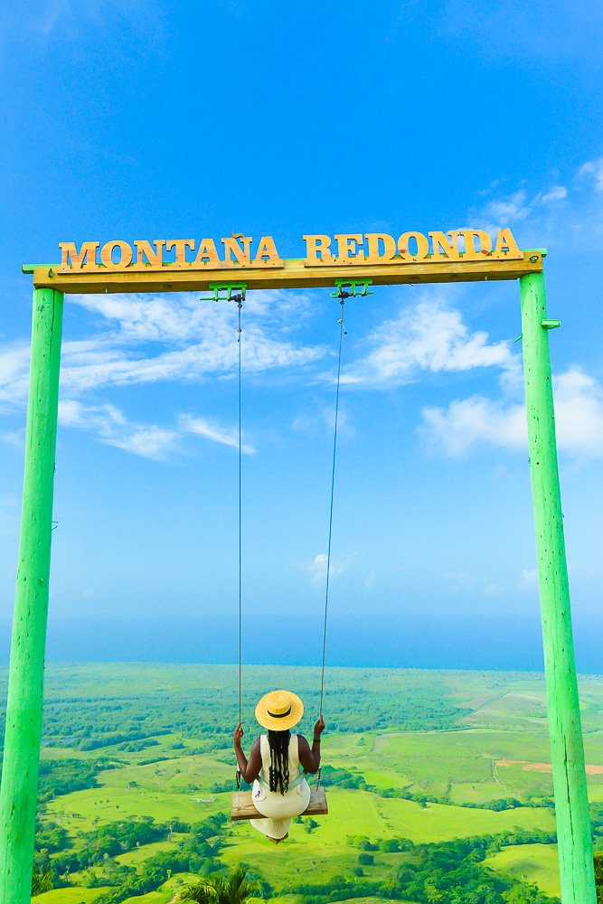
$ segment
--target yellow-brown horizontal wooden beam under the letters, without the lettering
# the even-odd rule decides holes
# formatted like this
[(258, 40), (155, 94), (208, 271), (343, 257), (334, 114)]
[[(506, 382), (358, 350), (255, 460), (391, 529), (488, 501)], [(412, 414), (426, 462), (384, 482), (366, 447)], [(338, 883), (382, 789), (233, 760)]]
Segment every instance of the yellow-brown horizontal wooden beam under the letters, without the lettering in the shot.
[[(105, 292), (197, 292), (215, 283), (245, 284), (248, 289), (313, 288), (334, 286), (336, 279), (372, 280), (373, 286), (422, 283), (478, 282), (518, 279), (542, 271), (542, 250), (524, 251), (522, 259), (430, 260), (385, 264), (347, 264), (306, 267), (301, 259), (283, 261), (283, 267), (148, 268), (146, 270), (73, 269), (57, 273), (58, 265), (33, 268), (36, 288), (53, 288), (72, 295)], [(30, 271), (31, 265), (25, 265)]]

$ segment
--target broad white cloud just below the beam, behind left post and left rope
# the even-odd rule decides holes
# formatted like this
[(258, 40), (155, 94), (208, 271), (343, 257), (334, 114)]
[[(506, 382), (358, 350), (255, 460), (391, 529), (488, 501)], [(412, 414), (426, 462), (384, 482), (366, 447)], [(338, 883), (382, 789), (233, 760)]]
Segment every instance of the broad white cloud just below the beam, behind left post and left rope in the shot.
[[(309, 315), (303, 294), (250, 293), (252, 315), (243, 320), (244, 372), (304, 368), (325, 355), (321, 347), (289, 337)], [(236, 306), (200, 301), (191, 293), (171, 297), (72, 296), (70, 303), (100, 318), (99, 333), (63, 342), (61, 391), (70, 397), (110, 386), (160, 381), (198, 382), (231, 376), (238, 360)], [(0, 402), (27, 398), (29, 345), (6, 346), (0, 358)]]

